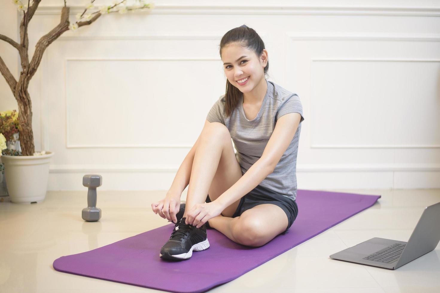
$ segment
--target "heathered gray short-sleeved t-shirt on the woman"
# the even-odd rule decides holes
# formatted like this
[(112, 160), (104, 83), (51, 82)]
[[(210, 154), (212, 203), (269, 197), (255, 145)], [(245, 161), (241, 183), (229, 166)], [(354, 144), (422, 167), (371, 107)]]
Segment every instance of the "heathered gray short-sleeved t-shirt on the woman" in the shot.
[(293, 200), (297, 197), (297, 154), (298, 141), (301, 133), (301, 122), (304, 121), (302, 104), (297, 94), (287, 91), (272, 81), (267, 81), (268, 89), (264, 96), (260, 111), (253, 120), (248, 120), (243, 110), (243, 96), (230, 117), (225, 117), (225, 95), (214, 103), (206, 120), (220, 122), (229, 129), (234, 141), (237, 161), (246, 173), (263, 154), (276, 121), (284, 114), (297, 112), (301, 114), (300, 125), (295, 136), (282, 154), (274, 172), (259, 184), (278, 194)]

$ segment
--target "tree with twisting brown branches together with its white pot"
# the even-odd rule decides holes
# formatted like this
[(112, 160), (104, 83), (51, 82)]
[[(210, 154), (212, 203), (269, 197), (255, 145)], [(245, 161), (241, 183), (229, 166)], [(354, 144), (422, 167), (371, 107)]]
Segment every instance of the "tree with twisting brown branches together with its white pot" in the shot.
[[(22, 3), (20, 0), (12, 1), (17, 6), (18, 11), (23, 12), (23, 18), (20, 22), (20, 43), (2, 34), (0, 34), (0, 40), (6, 41), (18, 50), (22, 71), (18, 81), (16, 81), (0, 56), (0, 73), (6, 79), (17, 100), (17, 129), (19, 134), (17, 136), (21, 152), (15, 150), (9, 154), (4, 153), (4, 150), (2, 150), (3, 155), (1, 159), (4, 163), (7, 190), (11, 201), (14, 203), (32, 203), (43, 201), (46, 196), (49, 163), (50, 158), (54, 155), (51, 151), (35, 151), (32, 131), (32, 103), (28, 92), (29, 82), (40, 65), (44, 51), (62, 33), (68, 30), (74, 31), (81, 26), (90, 25), (103, 14), (112, 12), (125, 14), (127, 12), (135, 12), (136, 10), (150, 11), (154, 8), (154, 4), (147, 4), (144, 0), (120, 0), (113, 1), (112, 5), (95, 7), (93, 6), (95, 0), (91, 0), (84, 8), (84, 11), (76, 15), (77, 21), (70, 23), (70, 7), (66, 6), (66, 0), (64, 0), (59, 24), (37, 41), (34, 54), (29, 61), (27, 28), (41, 0), (33, 0), (32, 3), (30, 3), (30, 0), (27, 0), (27, 4)], [(127, 5), (128, 2), (130, 2), (130, 5)], [(90, 12), (86, 13), (87, 11)]]

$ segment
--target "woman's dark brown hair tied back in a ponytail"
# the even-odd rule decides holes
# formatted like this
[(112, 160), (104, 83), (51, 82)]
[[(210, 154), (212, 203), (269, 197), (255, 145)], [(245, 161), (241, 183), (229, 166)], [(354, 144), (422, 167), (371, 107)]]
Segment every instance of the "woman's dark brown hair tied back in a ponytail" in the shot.
[[(264, 49), (263, 40), (261, 40), (260, 36), (254, 29), (251, 29), (246, 25), (242, 25), (234, 29), (231, 29), (230, 31), (224, 34), (224, 36), (220, 40), (220, 57), (221, 57), (221, 50), (225, 46), (231, 43), (238, 43), (243, 47), (248, 48), (251, 51), (254, 51), (258, 57), (260, 57), (261, 54), (263, 54), (263, 49)], [(265, 76), (268, 75), (268, 70), (269, 70), (269, 61), (266, 67), (264, 67)], [(238, 88), (233, 86), (226, 79), (225, 114), (227, 117), (231, 115), (232, 110), (234, 110), (235, 107), (238, 105), (241, 95), (242, 92), (240, 92)]]

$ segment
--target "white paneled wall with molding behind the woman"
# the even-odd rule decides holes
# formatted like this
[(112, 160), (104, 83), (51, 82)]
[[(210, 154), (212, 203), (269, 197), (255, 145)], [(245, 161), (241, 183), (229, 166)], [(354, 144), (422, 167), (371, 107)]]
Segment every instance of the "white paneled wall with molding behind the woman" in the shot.
[[(88, 2), (67, 1), (71, 21)], [(439, 1), (154, 3), (45, 51), (29, 92), (36, 150), (55, 152), (49, 190), (83, 190), (88, 173), (101, 190), (168, 190), (224, 93), (220, 39), (242, 24), (266, 44), (269, 80), (303, 104), (299, 189), (440, 187)], [(29, 56), (62, 4), (40, 4)], [(0, 33), (18, 40), (21, 16), (2, 6)], [(0, 56), (18, 78), (15, 49), (1, 42)], [(17, 109), (3, 77), (0, 97)]]

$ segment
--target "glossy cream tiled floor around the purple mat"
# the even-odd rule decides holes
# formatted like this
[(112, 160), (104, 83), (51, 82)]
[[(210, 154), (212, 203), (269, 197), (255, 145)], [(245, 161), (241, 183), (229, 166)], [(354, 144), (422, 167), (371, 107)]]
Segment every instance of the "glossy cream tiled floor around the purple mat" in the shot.
[[(328, 190), (380, 194), (378, 202), (213, 292), (440, 292), (440, 245), (397, 270), (332, 260), (373, 237), (407, 241), (440, 190)], [(165, 191), (99, 191), (99, 222), (85, 222), (87, 190), (49, 191), (32, 205), (0, 203), (0, 292), (147, 292), (152, 289), (55, 271), (60, 256), (95, 249), (169, 222), (151, 203)], [(182, 195), (182, 200), (186, 194)], [(158, 252), (159, 253), (159, 252)], [(280, 282), (281, 280), (281, 282)]]

